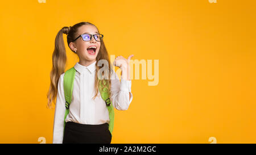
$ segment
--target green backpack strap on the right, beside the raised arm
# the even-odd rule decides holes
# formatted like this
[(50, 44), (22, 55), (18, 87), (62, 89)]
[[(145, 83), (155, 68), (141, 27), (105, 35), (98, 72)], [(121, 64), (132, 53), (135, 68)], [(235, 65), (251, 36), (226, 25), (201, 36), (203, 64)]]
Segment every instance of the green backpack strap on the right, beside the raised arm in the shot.
[[(100, 93), (101, 93), (101, 98), (103, 100), (105, 100), (105, 103), (106, 103), (106, 107), (108, 108), (108, 111), (109, 111), (109, 120), (110, 120), (110, 123), (109, 123), (109, 131), (112, 135), (112, 131), (113, 131), (113, 128), (114, 128), (114, 107), (113, 107), (113, 104), (109, 98), (109, 85), (107, 84), (106, 85), (106, 81), (105, 80), (98, 80), (98, 88), (100, 90)], [(102, 83), (103, 82), (103, 83)], [(104, 87), (104, 85), (106, 85)]]

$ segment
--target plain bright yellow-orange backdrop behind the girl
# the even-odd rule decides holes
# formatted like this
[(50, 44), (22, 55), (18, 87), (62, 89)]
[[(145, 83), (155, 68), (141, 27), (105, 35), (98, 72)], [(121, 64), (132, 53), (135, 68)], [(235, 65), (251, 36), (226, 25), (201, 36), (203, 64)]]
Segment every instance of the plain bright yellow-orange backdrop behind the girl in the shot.
[[(159, 60), (159, 83), (132, 81), (112, 143), (256, 143), (256, 2), (1, 1), (0, 143), (52, 143), (46, 108), (57, 32), (91, 22), (109, 55)], [(67, 69), (78, 58), (67, 46)]]

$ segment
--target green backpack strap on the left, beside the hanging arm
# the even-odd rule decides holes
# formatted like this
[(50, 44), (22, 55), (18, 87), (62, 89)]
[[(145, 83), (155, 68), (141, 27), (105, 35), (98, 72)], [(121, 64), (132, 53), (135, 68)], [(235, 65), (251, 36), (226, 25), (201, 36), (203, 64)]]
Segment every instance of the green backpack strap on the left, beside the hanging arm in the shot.
[(67, 70), (64, 74), (63, 79), (63, 86), (64, 86), (64, 95), (65, 95), (65, 116), (64, 116), (64, 129), (65, 129), (65, 119), (67, 118), (67, 115), (69, 113), (69, 105), (72, 100), (72, 92), (73, 92), (73, 85), (74, 85), (74, 79), (75, 79), (76, 69), (71, 68)]

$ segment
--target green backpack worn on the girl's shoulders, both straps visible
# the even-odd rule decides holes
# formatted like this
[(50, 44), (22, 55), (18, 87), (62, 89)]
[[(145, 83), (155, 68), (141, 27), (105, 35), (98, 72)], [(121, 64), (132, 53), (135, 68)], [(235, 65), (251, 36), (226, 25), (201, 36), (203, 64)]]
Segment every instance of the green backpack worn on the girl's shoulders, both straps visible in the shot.
[[(65, 96), (65, 116), (64, 116), (64, 129), (65, 129), (65, 119), (69, 113), (69, 105), (71, 104), (72, 100), (72, 92), (73, 92), (73, 85), (74, 85), (74, 79), (75, 79), (76, 69), (73, 67), (71, 69), (68, 69), (64, 73), (64, 96)], [(106, 81), (103, 81), (104, 84)], [(108, 86), (108, 85), (107, 85)], [(98, 89), (100, 90), (101, 98), (105, 101), (106, 107), (109, 111), (109, 131), (112, 135), (113, 127), (114, 127), (114, 107), (113, 104), (109, 98), (109, 89), (108, 87), (104, 87), (101, 83), (98, 84)]]

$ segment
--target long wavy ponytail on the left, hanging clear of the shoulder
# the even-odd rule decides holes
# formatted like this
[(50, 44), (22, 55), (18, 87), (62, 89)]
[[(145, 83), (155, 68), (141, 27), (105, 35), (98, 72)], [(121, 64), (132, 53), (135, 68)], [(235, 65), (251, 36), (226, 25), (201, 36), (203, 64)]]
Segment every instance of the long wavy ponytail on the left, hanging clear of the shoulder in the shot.
[(57, 33), (57, 36), (55, 38), (55, 49), (52, 54), (52, 70), (50, 73), (51, 84), (49, 86), (49, 91), (47, 93), (48, 108), (52, 108), (52, 102), (54, 102), (55, 104), (59, 78), (60, 78), (60, 75), (65, 72), (67, 55), (66, 55), (65, 44), (63, 40), (63, 33), (68, 35), (70, 30), (71, 30), (71, 27), (61, 28), (61, 30)]

